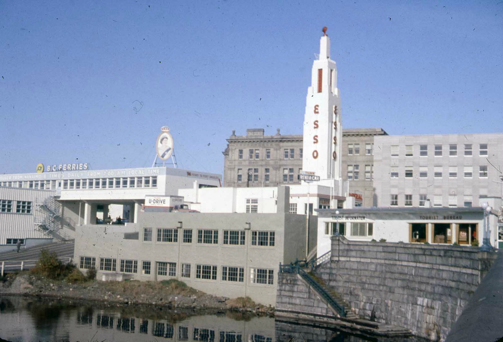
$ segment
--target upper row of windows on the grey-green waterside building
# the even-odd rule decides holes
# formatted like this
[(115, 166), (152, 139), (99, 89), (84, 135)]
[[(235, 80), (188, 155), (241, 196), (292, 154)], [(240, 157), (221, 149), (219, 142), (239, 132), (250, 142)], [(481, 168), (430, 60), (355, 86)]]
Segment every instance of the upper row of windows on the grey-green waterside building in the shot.
[[(182, 242), (184, 244), (192, 243), (192, 229), (184, 229)], [(143, 228), (143, 241), (152, 241), (152, 228)], [(178, 243), (177, 228), (157, 228), (157, 242)], [(218, 230), (198, 229), (197, 243), (218, 245)], [(244, 231), (223, 231), (223, 245), (245, 245)], [(269, 246), (275, 245), (275, 232), (251, 231), (251, 246)]]

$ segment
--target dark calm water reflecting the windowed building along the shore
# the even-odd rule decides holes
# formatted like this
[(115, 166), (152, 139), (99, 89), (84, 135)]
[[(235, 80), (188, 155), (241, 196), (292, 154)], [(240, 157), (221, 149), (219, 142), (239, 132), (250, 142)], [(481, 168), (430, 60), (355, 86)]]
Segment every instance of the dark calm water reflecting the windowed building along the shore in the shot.
[[(236, 319), (237, 318), (237, 319)], [(294, 325), (271, 317), (227, 312), (122, 307), (89, 302), (0, 297), (0, 337), (12, 341), (360, 342), (340, 331)], [(371, 339), (385, 341), (385, 339)], [(414, 339), (394, 339), (413, 341)]]

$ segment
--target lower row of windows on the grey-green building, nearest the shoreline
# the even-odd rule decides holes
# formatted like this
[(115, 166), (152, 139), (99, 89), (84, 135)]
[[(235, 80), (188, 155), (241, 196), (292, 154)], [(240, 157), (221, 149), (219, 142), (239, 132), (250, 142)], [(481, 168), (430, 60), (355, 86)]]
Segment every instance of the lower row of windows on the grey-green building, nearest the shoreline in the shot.
[[(96, 265), (96, 258), (94, 257), (80, 257), (79, 267), (81, 269), (94, 268)], [(120, 259), (119, 272), (121, 273), (138, 273), (138, 260)], [(156, 261), (156, 269), (154, 272), (158, 276), (177, 276), (177, 263)], [(180, 269), (180, 276), (182, 278), (191, 277), (191, 264), (182, 263)], [(117, 259), (115, 258), (100, 258), (100, 271), (117, 271)], [(196, 264), (194, 277), (196, 279), (204, 280), (217, 280), (218, 267), (216, 265), (202, 265)], [(150, 275), (152, 272), (152, 265), (150, 261), (141, 262), (141, 274)], [(220, 269), (220, 279), (222, 281), (230, 282), (244, 282), (244, 267), (239, 266), (222, 266)], [(250, 268), (250, 282), (253, 284), (274, 284), (274, 270), (263, 268)]]

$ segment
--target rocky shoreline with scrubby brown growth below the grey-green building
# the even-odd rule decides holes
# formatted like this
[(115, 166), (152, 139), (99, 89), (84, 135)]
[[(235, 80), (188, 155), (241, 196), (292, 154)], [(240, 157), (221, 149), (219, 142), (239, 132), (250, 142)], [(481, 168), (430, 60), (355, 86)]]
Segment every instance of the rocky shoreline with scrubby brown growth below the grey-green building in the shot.
[(274, 307), (257, 305), (249, 298), (212, 296), (180, 282), (90, 281), (70, 284), (29, 272), (9, 274), (0, 283), (0, 295), (43, 296), (115, 305), (149, 305), (168, 309), (195, 311), (240, 311), (260, 316), (274, 316)]

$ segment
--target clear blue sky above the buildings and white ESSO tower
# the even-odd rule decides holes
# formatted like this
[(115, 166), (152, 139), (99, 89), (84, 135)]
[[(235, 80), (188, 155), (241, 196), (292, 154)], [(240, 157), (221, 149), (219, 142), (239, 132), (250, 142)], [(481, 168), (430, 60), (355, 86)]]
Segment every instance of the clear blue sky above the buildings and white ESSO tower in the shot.
[[(222, 173), (232, 130), (302, 134), (321, 28), (345, 128), (503, 132), (503, 2), (0, 2), (0, 173)], [(142, 103), (142, 105), (140, 104)]]

